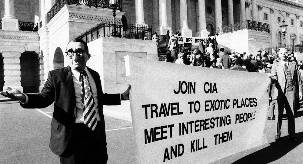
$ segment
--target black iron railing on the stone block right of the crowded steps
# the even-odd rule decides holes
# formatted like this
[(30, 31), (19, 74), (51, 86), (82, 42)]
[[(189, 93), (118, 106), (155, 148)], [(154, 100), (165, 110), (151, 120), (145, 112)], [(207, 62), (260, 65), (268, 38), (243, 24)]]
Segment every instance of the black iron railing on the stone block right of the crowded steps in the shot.
[(269, 24), (262, 23), (262, 22), (255, 22), (251, 20), (246, 20), (242, 22), (233, 23), (230, 25), (222, 26), (217, 28), (217, 33), (219, 34), (225, 34), (228, 32), (243, 30), (243, 29), (251, 29), (256, 31), (264, 31), (264, 32), (270, 32), (269, 31)]

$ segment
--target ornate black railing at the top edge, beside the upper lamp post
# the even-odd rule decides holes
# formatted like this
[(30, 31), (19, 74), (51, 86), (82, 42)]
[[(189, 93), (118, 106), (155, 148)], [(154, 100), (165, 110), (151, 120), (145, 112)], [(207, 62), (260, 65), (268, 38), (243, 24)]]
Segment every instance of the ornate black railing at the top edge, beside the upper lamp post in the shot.
[[(52, 9), (47, 13), (47, 21), (49, 22), (52, 18), (62, 9), (64, 5), (84, 5), (95, 8), (106, 8), (111, 9), (111, 5), (108, 0), (58, 0)], [(118, 0), (117, 10), (122, 11), (122, 0)]]

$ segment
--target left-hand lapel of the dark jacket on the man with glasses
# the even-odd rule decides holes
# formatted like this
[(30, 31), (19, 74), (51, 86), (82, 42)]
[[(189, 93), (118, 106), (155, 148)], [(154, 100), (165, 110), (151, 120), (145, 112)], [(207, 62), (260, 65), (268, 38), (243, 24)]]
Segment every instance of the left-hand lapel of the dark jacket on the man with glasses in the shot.
[(63, 70), (63, 77), (64, 77), (64, 82), (69, 91), (69, 94), (71, 94), (72, 100), (76, 106), (75, 86), (74, 86), (74, 82), (73, 82), (71, 67), (69, 67), (69, 66), (65, 67), (65, 69)]

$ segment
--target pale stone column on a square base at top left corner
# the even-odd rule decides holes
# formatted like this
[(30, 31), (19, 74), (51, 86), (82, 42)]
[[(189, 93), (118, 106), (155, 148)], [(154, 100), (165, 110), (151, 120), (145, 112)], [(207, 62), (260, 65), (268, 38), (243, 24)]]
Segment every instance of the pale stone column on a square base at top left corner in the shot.
[(14, 0), (4, 0), (5, 15), (2, 18), (2, 29), (4, 30), (19, 30), (18, 19), (15, 17)]

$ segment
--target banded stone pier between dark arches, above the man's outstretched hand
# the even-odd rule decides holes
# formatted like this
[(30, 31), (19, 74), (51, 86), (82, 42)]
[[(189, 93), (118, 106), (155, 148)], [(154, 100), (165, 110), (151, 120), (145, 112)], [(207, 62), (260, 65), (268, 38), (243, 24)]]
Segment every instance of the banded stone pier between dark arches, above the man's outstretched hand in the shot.
[(23, 92), (21, 86), (20, 71), (20, 52), (2, 52), (3, 69), (4, 69), (4, 85), (9, 86)]

